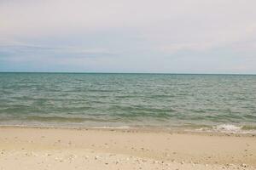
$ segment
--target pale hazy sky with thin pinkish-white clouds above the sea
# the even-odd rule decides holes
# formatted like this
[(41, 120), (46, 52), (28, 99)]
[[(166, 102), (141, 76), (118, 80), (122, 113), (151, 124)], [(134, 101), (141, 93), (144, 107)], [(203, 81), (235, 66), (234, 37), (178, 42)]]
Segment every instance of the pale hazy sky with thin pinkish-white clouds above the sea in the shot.
[(255, 0), (0, 0), (0, 71), (256, 74)]

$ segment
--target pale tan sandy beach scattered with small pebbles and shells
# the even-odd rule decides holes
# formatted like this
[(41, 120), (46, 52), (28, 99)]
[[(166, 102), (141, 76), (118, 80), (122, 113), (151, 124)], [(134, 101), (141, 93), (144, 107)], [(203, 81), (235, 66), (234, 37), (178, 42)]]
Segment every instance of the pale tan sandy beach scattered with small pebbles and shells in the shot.
[(256, 168), (254, 135), (38, 127), (0, 134), (0, 169)]

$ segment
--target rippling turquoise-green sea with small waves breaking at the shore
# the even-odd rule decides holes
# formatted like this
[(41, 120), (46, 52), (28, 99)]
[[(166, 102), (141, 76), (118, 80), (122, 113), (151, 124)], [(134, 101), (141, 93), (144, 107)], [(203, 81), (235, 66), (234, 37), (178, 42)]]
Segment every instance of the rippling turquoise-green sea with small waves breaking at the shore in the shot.
[(0, 125), (253, 131), (256, 76), (0, 73)]

